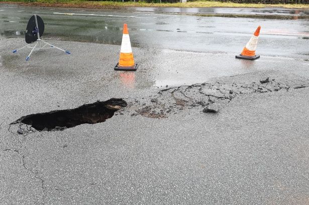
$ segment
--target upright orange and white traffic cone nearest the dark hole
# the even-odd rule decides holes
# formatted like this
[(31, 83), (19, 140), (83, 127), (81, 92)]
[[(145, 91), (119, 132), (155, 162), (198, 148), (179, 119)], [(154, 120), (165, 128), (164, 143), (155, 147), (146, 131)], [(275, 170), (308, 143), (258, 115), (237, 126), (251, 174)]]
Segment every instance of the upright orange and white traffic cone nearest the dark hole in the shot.
[(134, 63), (131, 42), (128, 32), (128, 25), (124, 24), (124, 31), (121, 42), (119, 63), (114, 70), (116, 71), (136, 71), (138, 65)]

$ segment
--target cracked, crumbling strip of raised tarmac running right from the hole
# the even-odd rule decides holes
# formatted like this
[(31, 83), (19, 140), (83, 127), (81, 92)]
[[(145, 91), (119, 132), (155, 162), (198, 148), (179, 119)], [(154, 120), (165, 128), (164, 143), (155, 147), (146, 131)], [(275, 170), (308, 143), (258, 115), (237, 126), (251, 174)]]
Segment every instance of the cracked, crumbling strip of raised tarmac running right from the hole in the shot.
[(264, 77), (256, 82), (218, 81), (163, 89), (157, 96), (151, 96), (150, 101), (141, 102), (141, 105), (137, 107), (133, 106), (137, 109), (135, 109), (136, 113), (131, 114), (131, 116), (140, 114), (150, 118), (166, 118), (180, 110), (192, 108), (218, 112), (220, 107), (240, 95), (289, 91), (289, 89), (309, 87), (308, 79), (296, 76), (292, 80), (269, 79), (269, 77)]

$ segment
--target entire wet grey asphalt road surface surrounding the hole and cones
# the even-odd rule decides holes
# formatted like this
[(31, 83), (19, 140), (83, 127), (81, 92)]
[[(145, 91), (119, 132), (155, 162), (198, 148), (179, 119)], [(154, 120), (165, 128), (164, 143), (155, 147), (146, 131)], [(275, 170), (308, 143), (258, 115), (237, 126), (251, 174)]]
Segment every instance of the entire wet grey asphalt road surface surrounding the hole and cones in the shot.
[[(72, 55), (11, 53), (34, 11)], [(8, 7), (0, 18), (1, 204), (307, 204), (307, 20)], [(124, 21), (137, 72), (113, 70)], [(257, 25), (261, 58), (235, 59)], [(128, 107), (104, 123), (10, 126), (113, 97)]]

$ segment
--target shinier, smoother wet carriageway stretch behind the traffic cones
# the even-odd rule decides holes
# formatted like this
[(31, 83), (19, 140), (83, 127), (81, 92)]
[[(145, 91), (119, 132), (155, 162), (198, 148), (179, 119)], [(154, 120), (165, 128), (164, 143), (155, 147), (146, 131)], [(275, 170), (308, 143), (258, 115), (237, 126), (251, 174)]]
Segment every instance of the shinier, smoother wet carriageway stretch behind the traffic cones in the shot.
[[(205, 77), (245, 73), (249, 69), (258, 70), (266, 66), (280, 70), (293, 68), (293, 71), (296, 69), (297, 72), (303, 72), (307, 67), (305, 60), (309, 58), (307, 20), (203, 18), (149, 12), (23, 7), (2, 7), (0, 10), (3, 10), (0, 12), (0, 32), (5, 37), (14, 38), (23, 38), (25, 25), (34, 12), (45, 21), (45, 39), (120, 45), (123, 23), (127, 23), (134, 47), (160, 49), (159, 53), (152, 54), (161, 58), (157, 63), (159, 70), (154, 69), (158, 71), (155, 73), (158, 76), (154, 79), (157, 86), (201, 83)], [(262, 26), (262, 30), (257, 54), (263, 58), (256, 62), (234, 59), (258, 25)], [(194, 52), (196, 56), (206, 55), (212, 58), (198, 58), (197, 62), (191, 62), (186, 59), (190, 57), (180, 52), (177, 61), (165, 60), (174, 58), (171, 55), (175, 51)], [(200, 65), (208, 65), (207, 70)], [(166, 66), (173, 67), (173, 73), (167, 72)], [(184, 68), (190, 68), (194, 72), (187, 72)]]

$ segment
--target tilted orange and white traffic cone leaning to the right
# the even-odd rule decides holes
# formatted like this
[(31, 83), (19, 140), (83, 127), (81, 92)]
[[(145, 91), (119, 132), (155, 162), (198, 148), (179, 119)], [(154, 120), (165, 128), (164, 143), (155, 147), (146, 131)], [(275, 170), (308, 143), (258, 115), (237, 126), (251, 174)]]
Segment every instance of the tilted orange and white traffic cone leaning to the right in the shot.
[(256, 31), (254, 32), (253, 37), (251, 37), (250, 41), (247, 43), (243, 52), (240, 55), (237, 55), (236, 58), (246, 59), (246, 60), (256, 60), (260, 58), (260, 56), (255, 55), (255, 50), (257, 46), (257, 42), (259, 39), (261, 26), (259, 26)]

